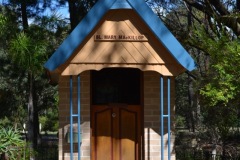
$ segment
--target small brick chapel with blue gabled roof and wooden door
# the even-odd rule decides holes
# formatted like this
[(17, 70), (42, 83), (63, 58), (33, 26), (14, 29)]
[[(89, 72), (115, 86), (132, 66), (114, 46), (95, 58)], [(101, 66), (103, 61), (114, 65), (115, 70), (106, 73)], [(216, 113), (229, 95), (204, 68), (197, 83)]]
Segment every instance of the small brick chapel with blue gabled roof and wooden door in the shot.
[(175, 159), (175, 77), (196, 64), (144, 0), (98, 0), (44, 67), (59, 160)]

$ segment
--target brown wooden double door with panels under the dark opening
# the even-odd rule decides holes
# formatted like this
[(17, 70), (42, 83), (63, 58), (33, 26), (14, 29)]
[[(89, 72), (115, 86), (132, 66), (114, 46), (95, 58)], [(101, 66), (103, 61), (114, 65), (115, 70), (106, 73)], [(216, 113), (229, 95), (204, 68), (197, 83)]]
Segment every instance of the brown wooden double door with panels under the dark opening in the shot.
[(91, 110), (91, 159), (140, 160), (141, 107), (96, 105)]

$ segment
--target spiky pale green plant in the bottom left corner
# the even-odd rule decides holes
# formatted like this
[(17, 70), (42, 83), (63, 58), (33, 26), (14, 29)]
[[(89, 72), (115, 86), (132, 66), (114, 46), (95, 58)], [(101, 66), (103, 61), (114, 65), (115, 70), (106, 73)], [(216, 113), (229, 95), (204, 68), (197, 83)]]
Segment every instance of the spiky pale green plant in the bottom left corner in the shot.
[(15, 160), (24, 147), (24, 140), (18, 130), (0, 127), (0, 157)]

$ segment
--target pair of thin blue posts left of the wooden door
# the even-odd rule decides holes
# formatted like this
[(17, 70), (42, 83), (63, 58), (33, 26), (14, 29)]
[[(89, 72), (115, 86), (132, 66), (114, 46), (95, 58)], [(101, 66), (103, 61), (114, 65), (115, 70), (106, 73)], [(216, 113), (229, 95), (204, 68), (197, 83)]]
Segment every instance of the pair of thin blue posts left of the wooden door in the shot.
[(73, 77), (70, 76), (70, 159), (73, 160), (73, 118), (77, 118), (78, 128), (78, 160), (81, 159), (81, 142), (80, 142), (80, 131), (81, 131), (81, 101), (80, 101), (80, 75), (77, 76), (77, 113), (73, 113)]

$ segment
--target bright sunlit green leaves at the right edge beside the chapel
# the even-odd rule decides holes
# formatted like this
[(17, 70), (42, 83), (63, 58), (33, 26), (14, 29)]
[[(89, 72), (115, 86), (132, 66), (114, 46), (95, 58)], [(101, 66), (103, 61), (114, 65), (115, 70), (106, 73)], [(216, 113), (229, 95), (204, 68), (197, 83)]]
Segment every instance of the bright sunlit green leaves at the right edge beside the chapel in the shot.
[(207, 83), (200, 93), (206, 97), (211, 106), (218, 103), (227, 106), (231, 100), (237, 100), (239, 97), (239, 42), (237, 40), (225, 43), (217, 42), (216, 50), (211, 53), (215, 53), (212, 55), (211, 83)]

